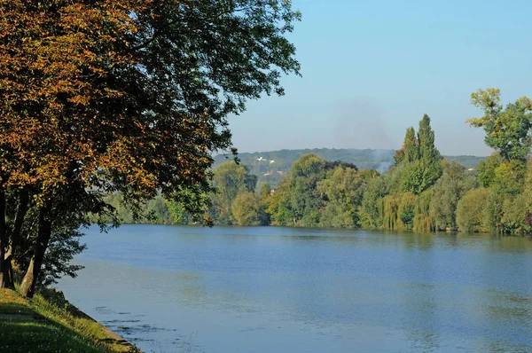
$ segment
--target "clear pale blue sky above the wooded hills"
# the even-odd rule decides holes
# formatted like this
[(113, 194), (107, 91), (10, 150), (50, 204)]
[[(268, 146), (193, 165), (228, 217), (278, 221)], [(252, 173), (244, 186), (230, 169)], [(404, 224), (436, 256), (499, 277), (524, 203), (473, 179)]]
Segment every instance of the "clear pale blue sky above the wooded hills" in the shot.
[(230, 117), (239, 152), (398, 149), (428, 114), (442, 154), (489, 155), (471, 93), (532, 97), (532, 1), (293, 0), (301, 75)]

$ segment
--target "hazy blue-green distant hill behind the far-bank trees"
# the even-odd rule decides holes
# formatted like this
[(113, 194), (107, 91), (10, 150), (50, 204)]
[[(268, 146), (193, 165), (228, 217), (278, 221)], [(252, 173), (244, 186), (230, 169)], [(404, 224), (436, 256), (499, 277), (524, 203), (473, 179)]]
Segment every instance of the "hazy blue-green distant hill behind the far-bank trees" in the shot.
[[(315, 148), (313, 150), (280, 150), (255, 153), (239, 153), (239, 159), (251, 169), (252, 174), (259, 177), (259, 184), (270, 183), (277, 185), (286, 175), (292, 163), (301, 155), (315, 153), (325, 161), (347, 161), (353, 163), (358, 169), (376, 169), (386, 171), (394, 162), (395, 150), (358, 150)], [(476, 156), (443, 156), (448, 161), (458, 161), (466, 168), (476, 168), (485, 157)], [(231, 158), (230, 158), (231, 160)], [(225, 156), (215, 157), (215, 166), (229, 161)]]

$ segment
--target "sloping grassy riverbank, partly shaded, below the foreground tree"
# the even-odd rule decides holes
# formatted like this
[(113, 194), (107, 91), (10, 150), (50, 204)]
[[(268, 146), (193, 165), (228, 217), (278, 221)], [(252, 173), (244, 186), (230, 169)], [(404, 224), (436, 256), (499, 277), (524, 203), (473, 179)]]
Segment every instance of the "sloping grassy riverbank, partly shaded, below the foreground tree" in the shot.
[(54, 289), (31, 300), (0, 289), (0, 351), (140, 352)]

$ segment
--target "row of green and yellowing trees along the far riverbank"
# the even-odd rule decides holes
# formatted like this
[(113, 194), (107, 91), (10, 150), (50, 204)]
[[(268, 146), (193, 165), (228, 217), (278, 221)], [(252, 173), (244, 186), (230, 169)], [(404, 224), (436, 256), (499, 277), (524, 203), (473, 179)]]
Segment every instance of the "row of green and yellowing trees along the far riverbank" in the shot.
[[(214, 170), (216, 192), (205, 216), (215, 224), (528, 234), (532, 104), (520, 98), (502, 106), (497, 89), (474, 92), (472, 103), (483, 116), (467, 122), (484, 129), (494, 150), (473, 171), (442, 158), (425, 115), (417, 131), (406, 130), (394, 166), (383, 174), (308, 153), (272, 190), (257, 188), (245, 165), (226, 162)], [(175, 206), (169, 214), (181, 215)]]

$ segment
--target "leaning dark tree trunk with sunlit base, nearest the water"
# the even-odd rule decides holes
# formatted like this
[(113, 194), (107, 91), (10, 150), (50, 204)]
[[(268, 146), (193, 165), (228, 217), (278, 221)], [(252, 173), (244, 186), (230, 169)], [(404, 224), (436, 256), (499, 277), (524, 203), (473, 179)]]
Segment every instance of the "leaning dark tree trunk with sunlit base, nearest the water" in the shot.
[(43, 206), (39, 209), (39, 231), (37, 235), (37, 241), (35, 242), (33, 249), (33, 256), (27, 267), (26, 274), (20, 284), (20, 294), (27, 298), (33, 297), (35, 294), (35, 285), (39, 278), (39, 272), (41, 271), (41, 265), (43, 264), (44, 253), (48, 247), (48, 242), (51, 237), (51, 219), (50, 209), (48, 206)]

